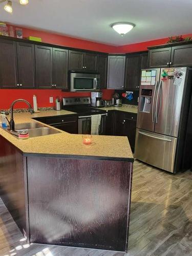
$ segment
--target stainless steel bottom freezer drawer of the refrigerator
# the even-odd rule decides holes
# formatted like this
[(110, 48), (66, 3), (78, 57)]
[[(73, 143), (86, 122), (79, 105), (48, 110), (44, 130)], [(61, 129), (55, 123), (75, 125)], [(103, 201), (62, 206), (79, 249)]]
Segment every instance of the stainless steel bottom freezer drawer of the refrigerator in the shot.
[(135, 158), (174, 172), (177, 138), (137, 129)]

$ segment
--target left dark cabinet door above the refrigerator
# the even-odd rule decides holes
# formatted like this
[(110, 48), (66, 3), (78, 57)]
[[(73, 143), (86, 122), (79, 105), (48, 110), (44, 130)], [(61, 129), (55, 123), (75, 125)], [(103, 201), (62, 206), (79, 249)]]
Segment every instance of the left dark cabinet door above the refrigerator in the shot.
[(169, 67), (171, 47), (150, 50), (148, 68), (166, 68)]

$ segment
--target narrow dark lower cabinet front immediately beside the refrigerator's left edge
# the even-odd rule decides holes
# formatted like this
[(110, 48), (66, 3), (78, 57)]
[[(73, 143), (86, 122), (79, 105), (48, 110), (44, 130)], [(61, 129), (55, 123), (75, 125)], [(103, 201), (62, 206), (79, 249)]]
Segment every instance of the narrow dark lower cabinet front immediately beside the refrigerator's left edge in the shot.
[(132, 151), (135, 150), (135, 136), (136, 136), (137, 115), (132, 113), (125, 113), (123, 120), (123, 136), (127, 136), (130, 142)]

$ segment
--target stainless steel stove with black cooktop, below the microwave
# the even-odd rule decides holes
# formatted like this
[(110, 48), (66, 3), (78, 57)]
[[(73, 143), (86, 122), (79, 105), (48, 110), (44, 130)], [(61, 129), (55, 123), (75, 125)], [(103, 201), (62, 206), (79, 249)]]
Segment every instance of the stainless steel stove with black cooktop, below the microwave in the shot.
[(78, 114), (78, 134), (92, 133), (92, 116), (101, 115), (98, 135), (105, 135), (106, 133), (106, 116), (105, 110), (100, 110), (91, 107), (90, 97), (78, 98), (63, 98), (62, 109), (75, 112)]

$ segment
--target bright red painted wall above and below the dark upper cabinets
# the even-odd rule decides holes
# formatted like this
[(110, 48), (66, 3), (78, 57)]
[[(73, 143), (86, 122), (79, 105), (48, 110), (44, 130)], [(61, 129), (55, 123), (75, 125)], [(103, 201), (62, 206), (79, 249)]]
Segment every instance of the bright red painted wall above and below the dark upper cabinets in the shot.
[[(16, 27), (16, 26), (13, 26)], [(125, 46), (110, 46), (99, 44), (97, 42), (92, 42), (88, 40), (82, 40), (77, 38), (72, 38), (68, 36), (62, 36), (58, 34), (53, 34), (45, 31), (34, 30), (29, 28), (23, 28), (23, 37), (37, 36), (41, 37), (43, 42), (48, 42), (50, 44), (74, 47), (79, 49), (100, 51), (106, 53), (128, 53), (128, 52), (138, 52), (145, 51), (149, 46), (161, 45), (167, 42), (167, 38), (151, 40), (146, 42), (140, 42), (138, 44), (125, 45)], [(192, 36), (188, 34), (185, 36)], [(111, 99), (114, 90), (103, 90), (103, 99)], [(61, 92), (61, 90), (0, 90), (0, 109), (8, 109), (13, 100), (18, 98), (24, 98), (32, 103), (33, 94), (37, 95), (38, 106), (54, 106), (54, 103), (49, 103), (49, 97), (75, 97), (75, 96), (90, 96), (90, 93), (70, 93)], [(25, 108), (26, 105), (23, 103), (17, 103), (16, 108)]]

